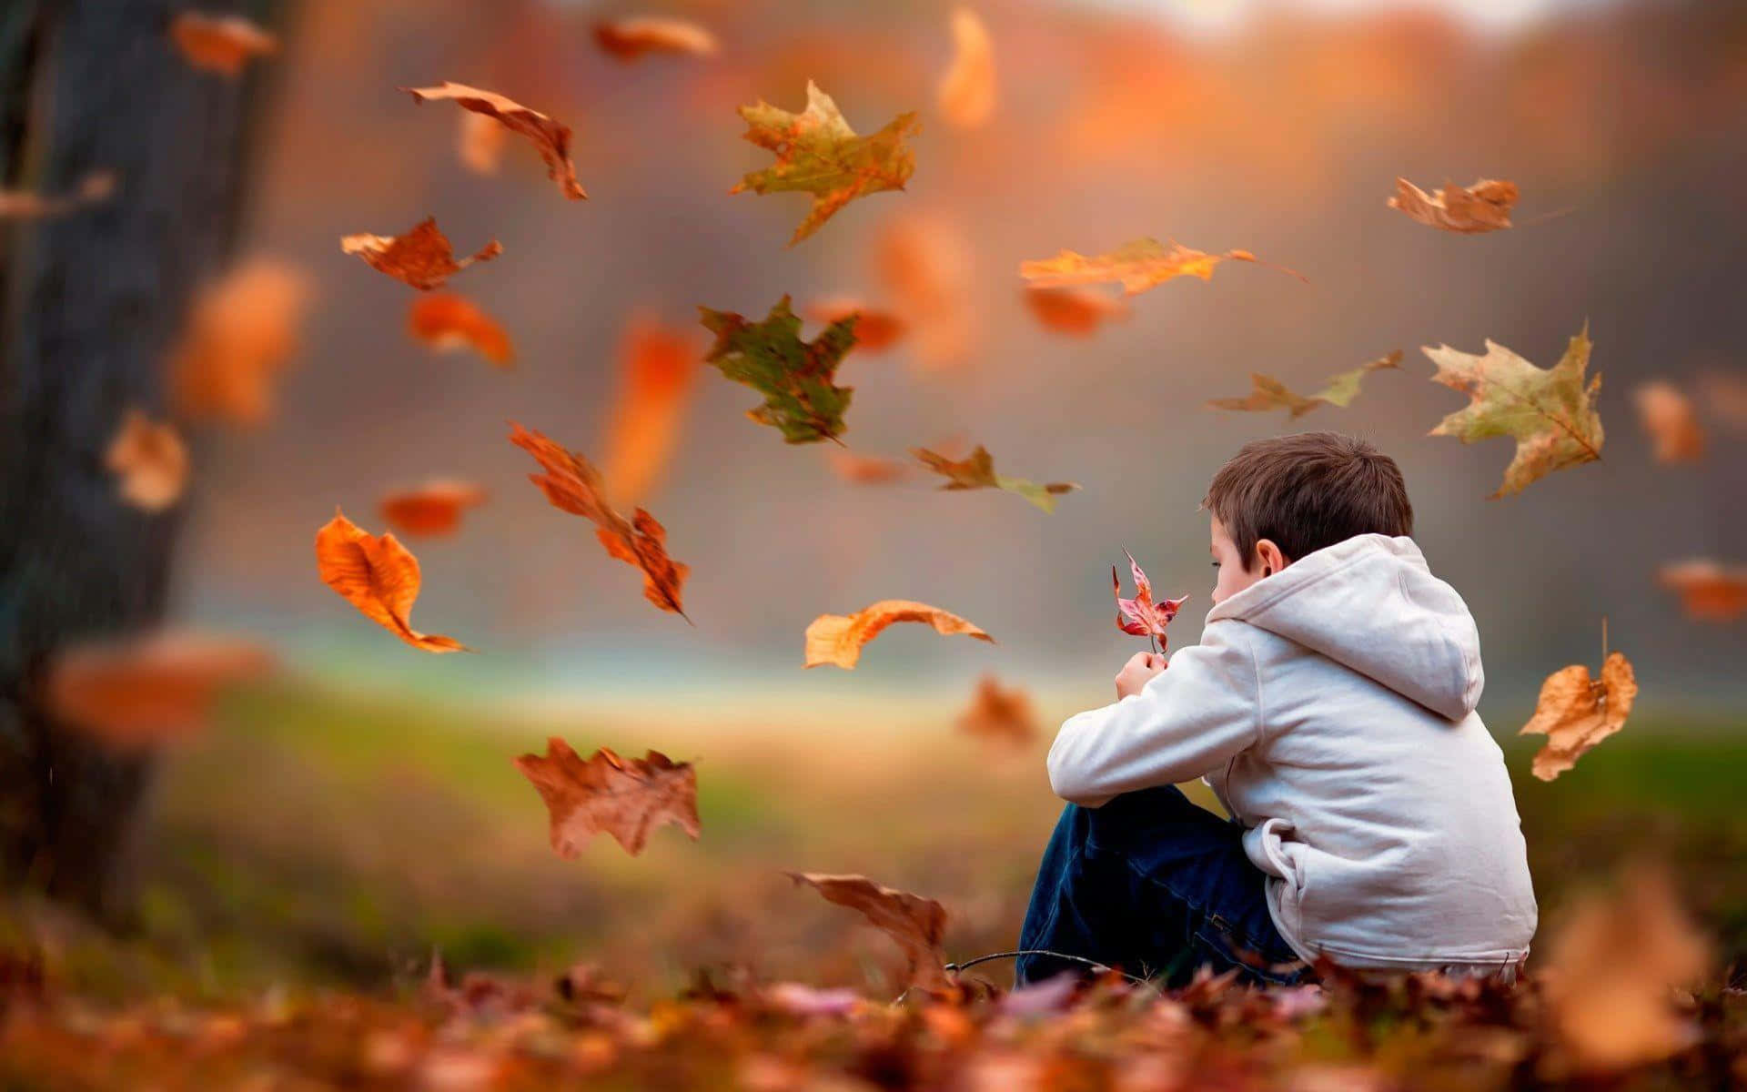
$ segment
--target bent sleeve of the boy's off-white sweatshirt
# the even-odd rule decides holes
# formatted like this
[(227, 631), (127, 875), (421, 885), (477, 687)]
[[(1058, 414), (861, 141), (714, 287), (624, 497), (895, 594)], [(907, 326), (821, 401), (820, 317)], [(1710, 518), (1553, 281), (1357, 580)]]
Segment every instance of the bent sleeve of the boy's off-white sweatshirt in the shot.
[(1191, 781), (1261, 734), (1256, 657), (1240, 622), (1212, 622), (1202, 643), (1139, 694), (1069, 716), (1050, 746), (1057, 797), (1099, 807), (1127, 791)]

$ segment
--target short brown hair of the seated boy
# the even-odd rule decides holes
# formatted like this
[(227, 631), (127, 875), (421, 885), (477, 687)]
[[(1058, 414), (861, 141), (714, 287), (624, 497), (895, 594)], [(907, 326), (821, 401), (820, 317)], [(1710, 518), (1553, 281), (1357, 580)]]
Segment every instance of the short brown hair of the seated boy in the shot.
[(1364, 440), (1302, 432), (1251, 440), (1219, 467), (1202, 507), (1225, 524), (1244, 570), (1272, 538), (1289, 561), (1354, 535), (1412, 535), (1401, 468)]

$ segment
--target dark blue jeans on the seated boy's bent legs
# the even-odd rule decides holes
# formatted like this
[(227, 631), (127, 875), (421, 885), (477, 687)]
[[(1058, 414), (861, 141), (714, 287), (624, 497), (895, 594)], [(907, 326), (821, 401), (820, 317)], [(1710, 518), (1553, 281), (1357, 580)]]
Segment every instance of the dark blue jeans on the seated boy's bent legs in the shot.
[[(1256, 984), (1310, 975), (1268, 916), (1265, 874), (1244, 828), (1174, 784), (1062, 811), (1031, 891), (1020, 949), (1048, 949), (1183, 985), (1195, 970), (1237, 968)], [(1022, 956), (1020, 984), (1083, 964)]]

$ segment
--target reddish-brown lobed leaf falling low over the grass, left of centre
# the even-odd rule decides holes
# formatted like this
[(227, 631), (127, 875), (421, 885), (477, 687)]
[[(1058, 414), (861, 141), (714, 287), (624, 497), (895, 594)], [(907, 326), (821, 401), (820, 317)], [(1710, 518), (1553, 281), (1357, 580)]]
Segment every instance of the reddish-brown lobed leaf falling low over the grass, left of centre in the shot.
[(552, 736), (547, 753), (522, 755), (515, 769), (533, 781), (552, 814), (552, 849), (575, 858), (583, 844), (606, 832), (625, 853), (643, 853), (650, 832), (673, 823), (695, 840), (697, 771), (660, 751), (646, 758), (620, 758), (601, 748), (583, 762), (570, 744)]

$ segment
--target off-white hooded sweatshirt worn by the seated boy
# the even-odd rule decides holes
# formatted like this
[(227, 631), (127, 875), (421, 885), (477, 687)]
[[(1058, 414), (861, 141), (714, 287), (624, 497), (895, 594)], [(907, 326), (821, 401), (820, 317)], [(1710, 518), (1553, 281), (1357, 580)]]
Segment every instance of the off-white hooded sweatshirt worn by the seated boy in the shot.
[(1302, 957), (1508, 975), (1536, 902), (1481, 683), (1455, 589), (1412, 538), (1359, 535), (1216, 605), (1141, 694), (1062, 723), (1050, 786), (1099, 807), (1205, 778)]

